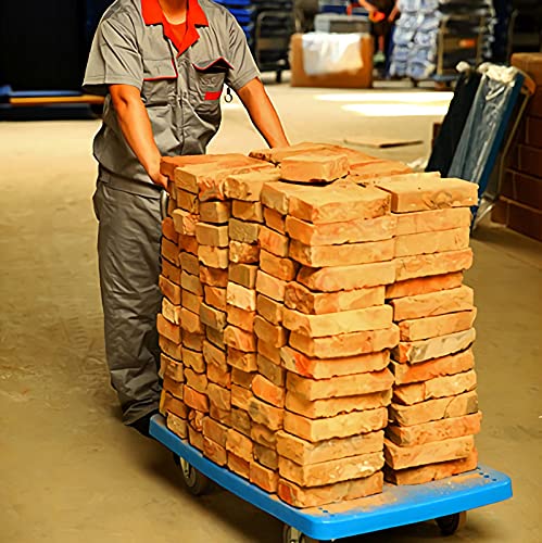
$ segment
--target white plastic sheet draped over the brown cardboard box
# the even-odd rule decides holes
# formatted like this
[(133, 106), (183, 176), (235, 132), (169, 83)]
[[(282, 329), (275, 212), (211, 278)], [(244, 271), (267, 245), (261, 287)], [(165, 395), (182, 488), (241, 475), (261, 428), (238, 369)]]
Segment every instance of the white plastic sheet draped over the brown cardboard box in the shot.
[(304, 34), (305, 72), (307, 75), (325, 75), (362, 68), (361, 39), (361, 34)]

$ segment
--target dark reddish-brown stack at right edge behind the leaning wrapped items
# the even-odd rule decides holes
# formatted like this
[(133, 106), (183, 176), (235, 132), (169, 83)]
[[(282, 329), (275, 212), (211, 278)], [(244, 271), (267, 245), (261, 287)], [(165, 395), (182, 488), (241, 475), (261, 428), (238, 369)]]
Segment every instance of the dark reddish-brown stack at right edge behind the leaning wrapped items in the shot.
[(528, 74), (537, 91), (507, 157), (502, 198), (492, 218), (542, 241), (542, 53), (517, 53), (512, 64)]

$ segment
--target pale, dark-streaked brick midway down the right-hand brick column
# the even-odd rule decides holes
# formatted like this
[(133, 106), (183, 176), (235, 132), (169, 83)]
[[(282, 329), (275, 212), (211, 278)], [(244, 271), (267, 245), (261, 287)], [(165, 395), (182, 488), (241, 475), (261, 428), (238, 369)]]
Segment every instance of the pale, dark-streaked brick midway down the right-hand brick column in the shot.
[(405, 341), (393, 349), (392, 357), (395, 362), (418, 364), (431, 358), (440, 358), (449, 354), (458, 353), (468, 349), (476, 339), (476, 330), (468, 330), (448, 336), (439, 336), (419, 341)]

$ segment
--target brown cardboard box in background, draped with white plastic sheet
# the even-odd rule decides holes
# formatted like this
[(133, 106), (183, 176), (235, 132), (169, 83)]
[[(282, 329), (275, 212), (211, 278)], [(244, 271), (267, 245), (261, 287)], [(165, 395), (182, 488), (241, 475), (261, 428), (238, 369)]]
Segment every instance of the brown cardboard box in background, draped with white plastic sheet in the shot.
[(363, 67), (355, 72), (338, 72), (328, 75), (311, 76), (303, 66), (303, 37), (294, 34), (291, 39), (290, 65), (292, 87), (324, 87), (342, 89), (368, 89), (373, 86), (374, 39), (362, 35), (360, 39)]

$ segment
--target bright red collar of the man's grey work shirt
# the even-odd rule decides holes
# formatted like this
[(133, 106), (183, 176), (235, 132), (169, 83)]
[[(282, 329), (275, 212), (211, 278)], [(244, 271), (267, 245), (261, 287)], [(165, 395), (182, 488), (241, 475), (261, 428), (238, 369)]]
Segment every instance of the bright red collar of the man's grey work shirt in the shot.
[(209, 26), (209, 21), (205, 12), (201, 8), (198, 0), (188, 0), (187, 11), (187, 31), (182, 41), (178, 41), (172, 25), (165, 18), (164, 12), (160, 7), (159, 0), (141, 0), (141, 12), (146, 25), (162, 25), (164, 36), (169, 38), (178, 51), (182, 54), (189, 47), (193, 46), (200, 39), (200, 33), (197, 26)]

